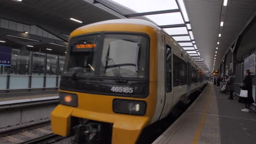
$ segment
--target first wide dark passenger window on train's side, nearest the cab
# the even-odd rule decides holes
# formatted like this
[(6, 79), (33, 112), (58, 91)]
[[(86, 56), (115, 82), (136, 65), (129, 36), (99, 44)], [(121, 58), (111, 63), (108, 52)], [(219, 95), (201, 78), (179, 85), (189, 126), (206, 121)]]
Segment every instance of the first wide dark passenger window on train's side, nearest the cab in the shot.
[(173, 55), (173, 86), (181, 86), (187, 83), (187, 63), (176, 55)]

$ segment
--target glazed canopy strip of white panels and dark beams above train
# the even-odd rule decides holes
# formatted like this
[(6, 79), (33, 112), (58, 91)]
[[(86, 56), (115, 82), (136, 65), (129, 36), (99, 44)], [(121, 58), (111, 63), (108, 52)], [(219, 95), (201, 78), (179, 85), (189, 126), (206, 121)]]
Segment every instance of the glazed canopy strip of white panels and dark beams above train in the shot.
[[(171, 35), (200, 68), (205, 71), (209, 70), (197, 49), (183, 0), (112, 0), (110, 2), (96, 0), (96, 3), (100, 3), (127, 18), (146, 17), (146, 20), (155, 23)], [(115, 5), (121, 5), (129, 10), (118, 9)]]

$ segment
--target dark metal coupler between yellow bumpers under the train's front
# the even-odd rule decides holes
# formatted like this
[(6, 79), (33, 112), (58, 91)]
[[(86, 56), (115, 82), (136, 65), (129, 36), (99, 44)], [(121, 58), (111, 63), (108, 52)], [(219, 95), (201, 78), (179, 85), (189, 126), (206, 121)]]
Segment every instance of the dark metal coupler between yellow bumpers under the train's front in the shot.
[(74, 128), (74, 144), (96, 144), (100, 134), (100, 125), (95, 123), (79, 124)]

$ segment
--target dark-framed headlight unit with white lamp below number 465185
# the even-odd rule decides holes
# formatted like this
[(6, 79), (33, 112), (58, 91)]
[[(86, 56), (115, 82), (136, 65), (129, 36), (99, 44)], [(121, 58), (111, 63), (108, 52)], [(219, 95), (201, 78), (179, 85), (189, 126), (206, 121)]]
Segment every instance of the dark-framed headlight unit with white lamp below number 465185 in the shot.
[(143, 116), (146, 113), (146, 107), (146, 101), (126, 99), (113, 100), (113, 111), (115, 113)]

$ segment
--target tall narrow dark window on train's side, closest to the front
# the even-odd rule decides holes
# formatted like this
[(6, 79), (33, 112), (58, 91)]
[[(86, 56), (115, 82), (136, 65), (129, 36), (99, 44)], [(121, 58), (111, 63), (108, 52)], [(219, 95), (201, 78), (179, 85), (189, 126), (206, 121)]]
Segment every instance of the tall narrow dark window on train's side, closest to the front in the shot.
[(171, 46), (166, 45), (166, 92), (172, 91), (172, 50)]

